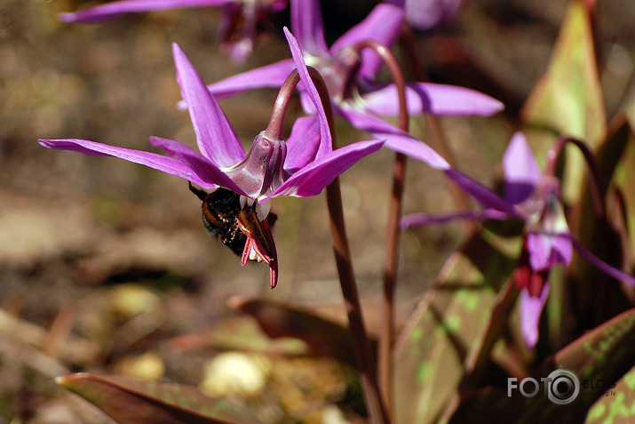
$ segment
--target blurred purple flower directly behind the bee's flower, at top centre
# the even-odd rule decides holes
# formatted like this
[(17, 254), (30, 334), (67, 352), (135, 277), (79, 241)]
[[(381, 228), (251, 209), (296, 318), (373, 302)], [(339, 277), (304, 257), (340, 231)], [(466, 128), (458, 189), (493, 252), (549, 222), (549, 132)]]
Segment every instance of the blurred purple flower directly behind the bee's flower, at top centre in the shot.
[[(373, 40), (390, 47), (397, 40), (403, 23), (403, 10), (393, 4), (378, 4), (369, 16), (351, 28), (330, 47), (324, 39), (324, 28), (319, 3), (315, 0), (291, 0), (291, 28), (296, 38), (287, 35), (291, 52), (304, 58), (321, 73), (328, 87), (334, 110), (353, 126), (385, 139), (385, 146), (413, 156), (434, 168), (447, 170), (448, 163), (421, 141), (401, 132), (378, 115), (397, 116), (398, 96), (393, 84), (370, 84), (381, 67), (376, 52), (364, 49), (359, 55), (353, 46)], [(274, 64), (230, 76), (208, 88), (218, 98), (231, 96), (253, 88), (280, 87), (291, 69), (293, 60)], [(350, 92), (348, 82), (354, 79)], [(503, 104), (485, 94), (445, 84), (410, 83), (407, 100), (411, 115), (491, 115)], [(312, 103), (303, 95), (303, 106), (314, 112)]]

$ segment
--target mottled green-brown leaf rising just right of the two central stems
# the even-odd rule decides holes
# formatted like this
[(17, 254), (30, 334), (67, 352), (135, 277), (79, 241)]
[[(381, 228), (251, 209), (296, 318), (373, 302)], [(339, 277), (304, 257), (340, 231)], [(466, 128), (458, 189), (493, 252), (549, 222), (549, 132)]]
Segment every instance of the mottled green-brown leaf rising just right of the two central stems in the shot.
[(480, 345), (496, 293), (515, 265), (501, 251), (513, 257), (520, 248), (518, 240), (500, 241), (472, 236), (448, 259), (439, 283), (401, 332), (394, 357), (394, 422), (433, 422), (456, 396), (465, 357)]

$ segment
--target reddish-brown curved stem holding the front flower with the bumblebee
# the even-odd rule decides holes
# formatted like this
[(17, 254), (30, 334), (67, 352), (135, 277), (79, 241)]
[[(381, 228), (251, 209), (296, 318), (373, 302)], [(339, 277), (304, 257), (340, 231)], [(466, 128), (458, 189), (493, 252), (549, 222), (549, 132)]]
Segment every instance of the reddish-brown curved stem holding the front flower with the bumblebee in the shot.
[[(333, 108), (330, 103), (329, 92), (320, 73), (312, 67), (307, 67), (309, 76), (313, 80), (324, 106), (324, 112), (329, 124), (329, 132), (333, 142), (333, 149), (337, 148), (335, 122)], [(298, 84), (298, 71), (294, 71), (287, 77), (282, 89), (275, 100), (274, 112), (266, 134), (270, 136), (280, 135), (282, 132), (282, 119), (284, 110), (289, 102), (290, 93)], [(366, 408), (369, 412), (370, 422), (373, 424), (389, 424), (390, 415), (379, 395), (377, 386), (377, 374), (370, 340), (364, 326), (361, 315), (360, 295), (357, 291), (357, 283), (353, 272), (353, 261), (346, 236), (344, 208), (342, 206), (342, 193), (339, 186), (339, 178), (336, 178), (326, 188), (327, 205), (329, 207), (330, 231), (333, 238), (333, 251), (339, 275), (339, 283), (342, 287), (345, 310), (348, 316), (349, 331), (353, 340), (355, 357), (361, 375), (361, 386), (366, 400)]]

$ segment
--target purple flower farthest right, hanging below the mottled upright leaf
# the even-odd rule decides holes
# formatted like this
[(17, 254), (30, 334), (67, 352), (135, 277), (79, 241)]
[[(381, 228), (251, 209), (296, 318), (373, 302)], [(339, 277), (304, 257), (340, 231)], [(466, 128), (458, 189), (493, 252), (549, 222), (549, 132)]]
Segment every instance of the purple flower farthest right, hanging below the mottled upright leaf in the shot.
[(503, 166), (506, 200), (476, 181), (462, 176), (466, 181), (461, 184), (464, 191), (487, 209), (441, 217), (417, 213), (404, 217), (401, 227), (409, 228), (454, 219), (524, 220), (525, 235), (514, 277), (520, 288), (520, 327), (528, 347), (533, 348), (538, 340), (538, 324), (549, 292), (549, 272), (556, 265), (567, 266), (571, 262), (574, 248), (607, 275), (623, 283), (635, 286), (635, 277), (599, 260), (571, 235), (560, 201), (560, 182), (540, 171), (521, 132), (512, 137), (503, 157)]

